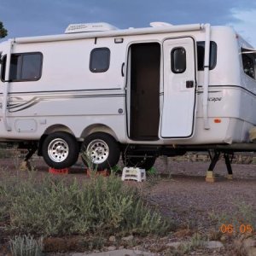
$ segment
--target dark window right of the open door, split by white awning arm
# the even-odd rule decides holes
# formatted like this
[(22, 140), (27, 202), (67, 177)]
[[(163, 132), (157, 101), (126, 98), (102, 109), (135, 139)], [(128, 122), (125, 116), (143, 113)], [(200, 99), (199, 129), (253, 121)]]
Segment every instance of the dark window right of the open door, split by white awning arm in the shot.
[[(205, 60), (205, 42), (200, 41), (196, 43), (197, 46), (197, 69), (199, 71), (204, 70)], [(210, 42), (210, 60), (209, 67), (212, 70), (217, 63), (217, 44), (213, 41)]]

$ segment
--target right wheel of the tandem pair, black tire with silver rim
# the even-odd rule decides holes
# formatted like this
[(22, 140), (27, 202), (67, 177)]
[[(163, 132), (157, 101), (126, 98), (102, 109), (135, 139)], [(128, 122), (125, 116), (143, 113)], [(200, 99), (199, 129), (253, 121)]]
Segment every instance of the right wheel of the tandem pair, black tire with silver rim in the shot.
[(81, 154), (85, 166), (92, 165), (97, 171), (109, 170), (119, 162), (119, 143), (108, 133), (95, 132), (85, 137)]

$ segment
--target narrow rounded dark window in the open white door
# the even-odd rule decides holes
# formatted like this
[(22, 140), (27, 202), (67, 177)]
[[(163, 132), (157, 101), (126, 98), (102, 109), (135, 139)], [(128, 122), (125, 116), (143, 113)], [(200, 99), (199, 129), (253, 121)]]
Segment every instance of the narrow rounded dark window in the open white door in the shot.
[(171, 67), (173, 73), (183, 73), (186, 70), (186, 50), (183, 47), (172, 49)]

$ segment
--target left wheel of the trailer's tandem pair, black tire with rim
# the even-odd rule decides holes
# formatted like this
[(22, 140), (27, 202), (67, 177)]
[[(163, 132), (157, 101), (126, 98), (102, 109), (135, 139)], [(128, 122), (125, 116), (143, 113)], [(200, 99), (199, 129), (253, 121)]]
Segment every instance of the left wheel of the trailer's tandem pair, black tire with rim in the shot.
[(56, 131), (44, 139), (42, 155), (48, 166), (55, 169), (67, 168), (73, 166), (79, 158), (79, 143), (70, 133)]

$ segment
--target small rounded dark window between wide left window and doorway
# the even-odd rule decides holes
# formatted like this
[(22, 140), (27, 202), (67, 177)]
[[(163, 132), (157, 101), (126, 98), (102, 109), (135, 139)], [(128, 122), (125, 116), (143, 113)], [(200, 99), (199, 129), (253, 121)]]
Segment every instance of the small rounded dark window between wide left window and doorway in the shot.
[(93, 73), (106, 72), (110, 63), (110, 50), (96, 48), (90, 52), (90, 71)]

